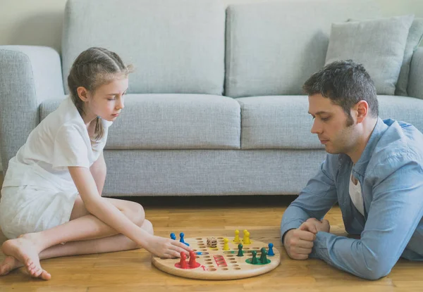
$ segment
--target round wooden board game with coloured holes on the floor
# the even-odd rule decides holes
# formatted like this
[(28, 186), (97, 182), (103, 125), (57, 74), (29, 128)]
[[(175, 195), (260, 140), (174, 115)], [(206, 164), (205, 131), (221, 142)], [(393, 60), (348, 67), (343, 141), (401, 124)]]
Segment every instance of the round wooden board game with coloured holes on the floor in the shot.
[[(163, 259), (156, 256), (152, 257), (152, 263), (161, 271), (168, 274), (174, 274), (179, 277), (204, 279), (204, 280), (229, 280), (242, 279), (257, 276), (271, 271), (281, 262), (281, 254), (276, 248), (274, 256), (267, 256), (270, 260), (266, 265), (251, 265), (246, 260), (252, 258), (252, 250), (257, 251), (257, 258), (260, 258), (261, 248), (268, 250), (267, 243), (251, 239), (250, 244), (243, 244), (242, 257), (238, 257), (238, 243), (233, 242), (233, 237), (227, 237), (229, 250), (223, 250), (223, 237), (213, 236), (217, 239), (216, 248), (207, 247), (207, 237), (197, 237), (185, 239), (190, 244), (190, 248), (195, 251), (196, 261), (199, 267), (192, 269), (181, 269), (179, 267), (180, 259)], [(188, 261), (188, 258), (187, 258)]]

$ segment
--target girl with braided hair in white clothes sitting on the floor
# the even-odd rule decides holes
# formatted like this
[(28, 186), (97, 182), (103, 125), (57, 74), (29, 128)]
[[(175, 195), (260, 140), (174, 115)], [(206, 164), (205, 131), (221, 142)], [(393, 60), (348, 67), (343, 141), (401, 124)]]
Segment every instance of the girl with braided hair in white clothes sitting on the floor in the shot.
[(0, 226), (9, 240), (1, 246), (7, 257), (0, 274), (25, 265), (32, 277), (47, 280), (40, 259), (140, 247), (164, 258), (190, 251), (154, 236), (141, 205), (101, 196), (103, 148), (130, 72), (116, 53), (83, 51), (68, 76), (70, 96), (10, 160), (1, 189)]

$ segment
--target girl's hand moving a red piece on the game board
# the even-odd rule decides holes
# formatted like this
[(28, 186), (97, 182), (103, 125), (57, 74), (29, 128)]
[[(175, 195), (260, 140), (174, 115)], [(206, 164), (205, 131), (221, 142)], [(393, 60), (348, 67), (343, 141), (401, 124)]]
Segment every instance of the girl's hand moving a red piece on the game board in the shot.
[(180, 241), (165, 239), (160, 236), (152, 236), (148, 239), (144, 248), (160, 258), (180, 258), (181, 252), (185, 252), (188, 255), (191, 251), (189, 246)]

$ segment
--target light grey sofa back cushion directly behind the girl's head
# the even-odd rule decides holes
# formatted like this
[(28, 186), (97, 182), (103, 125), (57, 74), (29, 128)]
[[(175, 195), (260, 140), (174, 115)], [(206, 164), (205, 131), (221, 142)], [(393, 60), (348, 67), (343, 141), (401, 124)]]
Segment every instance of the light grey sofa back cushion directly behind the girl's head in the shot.
[(225, 17), (219, 0), (69, 0), (62, 37), (66, 93), (78, 54), (102, 46), (135, 66), (129, 93), (220, 95)]

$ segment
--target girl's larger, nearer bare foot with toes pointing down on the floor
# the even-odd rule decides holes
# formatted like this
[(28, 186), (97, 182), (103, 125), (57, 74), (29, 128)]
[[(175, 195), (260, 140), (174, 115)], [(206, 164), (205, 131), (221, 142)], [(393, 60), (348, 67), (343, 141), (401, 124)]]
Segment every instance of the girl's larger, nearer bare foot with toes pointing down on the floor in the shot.
[(5, 255), (11, 255), (19, 262), (22, 262), (32, 277), (49, 280), (51, 279), (51, 275), (44, 271), (39, 264), (39, 251), (35, 247), (36, 242), (34, 236), (25, 234), (18, 239), (5, 241), (3, 246), (1, 246), (1, 250)]

